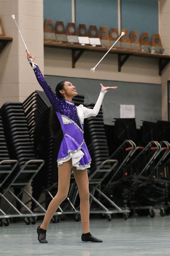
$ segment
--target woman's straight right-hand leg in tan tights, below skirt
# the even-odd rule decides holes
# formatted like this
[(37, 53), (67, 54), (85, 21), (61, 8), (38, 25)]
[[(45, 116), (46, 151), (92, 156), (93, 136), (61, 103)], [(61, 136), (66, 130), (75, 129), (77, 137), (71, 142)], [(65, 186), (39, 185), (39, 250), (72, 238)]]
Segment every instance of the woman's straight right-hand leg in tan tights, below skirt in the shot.
[(74, 172), (74, 177), (79, 189), (80, 196), (80, 215), (81, 215), (81, 225), (82, 233), (88, 233), (89, 231), (89, 178), (87, 169), (77, 170), (76, 167), (72, 167)]

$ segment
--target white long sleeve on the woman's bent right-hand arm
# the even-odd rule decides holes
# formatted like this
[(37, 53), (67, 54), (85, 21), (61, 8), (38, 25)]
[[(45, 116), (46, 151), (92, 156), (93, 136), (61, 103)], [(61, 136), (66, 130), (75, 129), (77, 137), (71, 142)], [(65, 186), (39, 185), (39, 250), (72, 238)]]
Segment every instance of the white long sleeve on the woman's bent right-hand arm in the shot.
[(107, 90), (107, 91), (106, 90), (101, 90), (100, 91), (98, 100), (96, 101), (96, 104), (95, 104), (93, 109), (89, 109), (88, 107), (83, 106), (84, 118), (88, 118), (90, 116), (96, 116), (99, 113), (101, 103), (102, 103), (103, 98), (104, 98), (104, 94), (108, 91), (109, 90)]

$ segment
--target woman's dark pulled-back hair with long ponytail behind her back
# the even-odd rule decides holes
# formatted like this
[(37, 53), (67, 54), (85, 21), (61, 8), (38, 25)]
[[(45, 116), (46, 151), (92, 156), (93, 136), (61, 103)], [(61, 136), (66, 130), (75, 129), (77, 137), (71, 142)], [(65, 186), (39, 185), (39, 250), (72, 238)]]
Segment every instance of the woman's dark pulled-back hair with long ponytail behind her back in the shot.
[[(58, 98), (64, 98), (60, 93), (60, 90), (64, 89), (65, 81), (61, 81), (56, 86), (56, 95)], [(58, 135), (62, 132), (60, 121), (58, 120), (58, 116), (56, 115), (55, 110), (52, 108), (50, 118), (49, 118), (49, 129), (51, 131), (52, 137), (57, 138)]]

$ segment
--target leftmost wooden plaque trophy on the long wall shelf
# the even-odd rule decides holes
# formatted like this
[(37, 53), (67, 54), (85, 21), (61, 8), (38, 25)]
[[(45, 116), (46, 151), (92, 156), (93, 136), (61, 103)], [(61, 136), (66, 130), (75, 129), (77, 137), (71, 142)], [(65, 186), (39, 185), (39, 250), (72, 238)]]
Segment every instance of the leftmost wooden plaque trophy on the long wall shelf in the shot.
[(44, 22), (44, 41), (56, 43), (55, 29), (52, 19), (45, 19)]

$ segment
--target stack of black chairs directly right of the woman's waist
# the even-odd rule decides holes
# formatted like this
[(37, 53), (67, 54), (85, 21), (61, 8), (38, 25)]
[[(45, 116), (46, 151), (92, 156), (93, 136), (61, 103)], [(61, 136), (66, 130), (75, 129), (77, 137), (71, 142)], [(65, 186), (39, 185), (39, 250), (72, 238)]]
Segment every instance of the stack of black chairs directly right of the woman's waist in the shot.
[[(94, 104), (85, 105), (89, 109), (93, 109)], [(107, 137), (105, 134), (103, 111), (100, 111), (97, 116), (92, 116), (84, 120), (85, 129), (84, 137), (89, 149), (89, 153), (93, 161), (91, 162), (91, 171), (96, 169), (104, 160), (109, 158), (109, 148)]]

